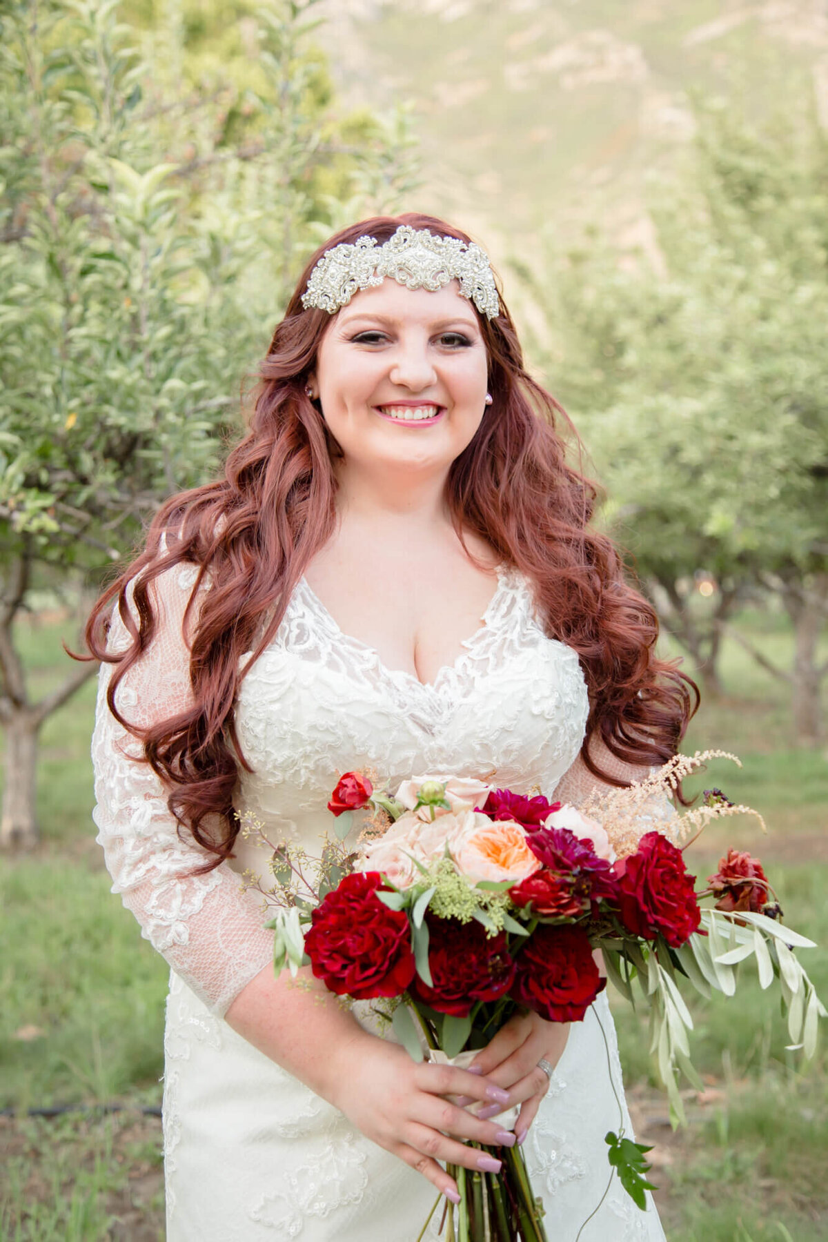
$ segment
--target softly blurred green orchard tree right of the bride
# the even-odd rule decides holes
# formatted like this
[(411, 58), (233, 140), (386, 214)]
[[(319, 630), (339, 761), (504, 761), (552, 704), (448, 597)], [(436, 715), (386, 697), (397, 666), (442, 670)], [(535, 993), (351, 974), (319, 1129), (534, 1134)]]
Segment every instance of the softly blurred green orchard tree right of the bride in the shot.
[[(578, 415), (668, 628), (716, 684), (741, 592), (775, 591), (791, 668), (740, 641), (792, 692), (798, 740), (823, 735), (828, 612), (828, 144), (811, 102), (752, 128), (696, 108), (686, 161), (652, 190), (657, 263), (600, 238), (559, 256), (550, 307)], [(567, 391), (569, 389), (569, 391)], [(693, 589), (719, 584), (706, 617)]]

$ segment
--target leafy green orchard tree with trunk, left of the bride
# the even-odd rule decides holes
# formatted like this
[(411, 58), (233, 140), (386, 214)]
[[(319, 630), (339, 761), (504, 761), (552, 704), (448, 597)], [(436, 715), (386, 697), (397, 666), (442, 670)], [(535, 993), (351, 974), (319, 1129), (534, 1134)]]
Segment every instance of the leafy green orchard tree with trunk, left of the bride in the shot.
[[(96, 671), (32, 699), (15, 642), (32, 576), (99, 581), (216, 469), (329, 204), (392, 209), (387, 169), (413, 176), (392, 123), (335, 118), (313, 4), (261, 11), (246, 84), (166, 96), (112, 0), (0, 19), (0, 843), (36, 840), (40, 729)], [(382, 201), (360, 196), (375, 174)]]

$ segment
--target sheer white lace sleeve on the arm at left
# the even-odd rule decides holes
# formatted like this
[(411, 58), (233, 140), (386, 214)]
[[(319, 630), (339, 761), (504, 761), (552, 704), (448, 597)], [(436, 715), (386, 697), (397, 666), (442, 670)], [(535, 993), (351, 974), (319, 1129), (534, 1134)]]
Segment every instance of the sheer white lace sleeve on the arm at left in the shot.
[[(175, 566), (153, 584), (159, 628), (142, 660), (117, 692), (124, 718), (139, 725), (164, 719), (190, 700), (189, 650), (184, 612), (195, 584), (192, 566)], [(115, 606), (108, 648), (128, 646)], [(241, 888), (238, 874), (221, 863), (204, 876), (191, 872), (207, 853), (184, 830), (179, 836), (168, 810), (168, 791), (140, 756), (140, 743), (107, 707), (112, 664), (103, 664), (98, 684), (93, 812), (98, 842), (124, 905), (142, 935), (210, 1009), (222, 1015), (242, 987), (271, 960), (273, 934), (262, 927), (261, 900)]]

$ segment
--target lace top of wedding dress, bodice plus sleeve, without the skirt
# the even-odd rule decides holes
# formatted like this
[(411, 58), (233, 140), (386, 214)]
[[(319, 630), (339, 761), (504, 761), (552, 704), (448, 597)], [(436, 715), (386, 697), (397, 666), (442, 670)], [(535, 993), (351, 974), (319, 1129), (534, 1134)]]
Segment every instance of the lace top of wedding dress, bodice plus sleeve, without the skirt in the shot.
[[(195, 576), (192, 566), (178, 566), (151, 587), (159, 633), (117, 699), (137, 724), (169, 717), (189, 699), (182, 622)], [(338, 775), (366, 764), (392, 781), (420, 773), (492, 774), (500, 786), (539, 785), (576, 801), (592, 784), (576, 760), (588, 709), (577, 655), (546, 637), (530, 584), (514, 569), (498, 570), (482, 621), (454, 663), (423, 684), (343, 633), (302, 579), (238, 693), (236, 724), (252, 771), (241, 774), (237, 807), (312, 850), (330, 826), (325, 804)], [(115, 614), (110, 650), (127, 641)], [(137, 761), (139, 743), (109, 713), (109, 676), (104, 666), (93, 760), (94, 818), (113, 892), (196, 995), (223, 1013), (271, 958), (261, 898), (240, 883), (262, 856), (240, 840), (236, 858), (191, 874), (204, 852), (176, 832), (165, 789)]]

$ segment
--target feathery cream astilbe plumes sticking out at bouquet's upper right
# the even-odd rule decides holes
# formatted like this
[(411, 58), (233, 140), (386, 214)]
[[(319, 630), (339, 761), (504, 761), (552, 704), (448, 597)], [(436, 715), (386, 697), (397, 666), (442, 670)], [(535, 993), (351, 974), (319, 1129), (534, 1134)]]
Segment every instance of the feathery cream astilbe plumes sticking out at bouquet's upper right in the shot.
[(627, 789), (596, 790), (578, 805), (578, 810), (603, 826), (618, 858), (634, 853), (647, 832), (658, 831), (674, 845), (686, 845), (711, 820), (727, 815), (752, 815), (758, 820), (762, 832), (767, 832), (765, 820), (757, 811), (750, 806), (735, 806), (720, 795), (705, 797), (701, 806), (677, 811), (673, 799), (679, 781), (709, 759), (730, 759), (741, 768), (741, 760), (726, 750), (696, 750), (694, 755), (674, 755), (644, 780), (636, 781)]

